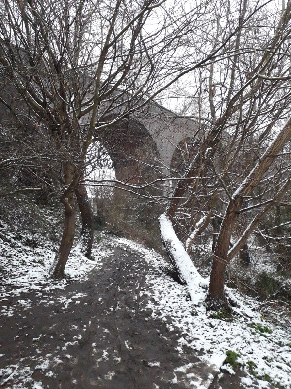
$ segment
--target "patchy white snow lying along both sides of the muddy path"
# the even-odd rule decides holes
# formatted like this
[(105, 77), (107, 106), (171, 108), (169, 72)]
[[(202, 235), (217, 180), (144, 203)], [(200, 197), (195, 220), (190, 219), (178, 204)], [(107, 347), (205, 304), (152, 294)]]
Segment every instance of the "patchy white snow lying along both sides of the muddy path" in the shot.
[[(24, 244), (23, 239), (19, 242), (13, 235), (9, 236), (9, 233), (5, 241), (0, 239), (2, 315), (13, 315), (13, 308), (5, 306), (8, 296), (21, 296), (29, 290), (64, 289), (67, 284), (67, 280), (52, 280), (48, 277), (56, 248), (42, 237), (39, 237), (41, 244), (33, 245), (34, 238), (35, 236), (27, 235), (28, 244)], [(241, 379), (244, 388), (271, 388), (272, 383), (275, 388), (291, 389), (290, 332), (266, 322), (257, 312), (258, 302), (232, 290), (234, 298), (242, 301), (244, 308), (237, 309), (231, 320), (220, 320), (216, 313), (207, 312), (203, 305), (194, 306), (189, 300), (187, 286), (174, 282), (173, 278), (167, 275), (166, 272), (172, 270), (172, 266), (154, 250), (123, 238), (104, 237), (103, 240), (105, 239), (108, 239), (111, 247), (121, 246), (137, 251), (143, 260), (147, 261), (151, 270), (147, 275), (148, 289), (143, 293), (155, 301), (149, 302), (148, 308), (152, 310), (153, 318), (167, 323), (169, 331), (175, 331), (176, 327), (181, 330), (181, 346), (188, 345), (195, 351), (200, 350), (201, 361), (209, 363), (215, 371), (221, 371), (221, 374), (226, 371), (233, 374), (236, 364), (245, 373)], [(66, 274), (71, 280), (85, 279), (88, 272), (94, 266), (102, 265), (102, 259), (110, 253), (112, 249), (100, 245), (98, 254), (95, 253), (95, 261), (90, 261), (83, 257), (77, 248), (69, 258)], [(206, 293), (203, 287), (199, 290), (199, 293)], [(69, 303), (78, 303), (80, 297), (62, 301), (64, 307)], [(30, 300), (20, 299), (19, 304), (25, 310)], [(171, 317), (170, 322), (166, 317)], [(182, 352), (182, 347), (178, 348), (178, 351)], [(235, 356), (234, 364), (225, 362), (226, 354)], [(40, 360), (40, 369), (46, 363), (46, 359)], [(17, 366), (10, 366), (8, 369), (12, 369), (11, 374), (14, 374)], [(189, 375), (190, 387), (194, 389), (206, 388), (213, 379), (213, 376), (209, 376), (209, 382), (195, 381), (191, 377), (191, 367), (181, 366), (179, 369)], [(108, 379), (112, 377), (112, 373), (108, 373)], [(30, 371), (23, 371), (23, 376), (29, 377), (30, 374)], [(37, 382), (33, 385), (35, 389), (41, 388)]]

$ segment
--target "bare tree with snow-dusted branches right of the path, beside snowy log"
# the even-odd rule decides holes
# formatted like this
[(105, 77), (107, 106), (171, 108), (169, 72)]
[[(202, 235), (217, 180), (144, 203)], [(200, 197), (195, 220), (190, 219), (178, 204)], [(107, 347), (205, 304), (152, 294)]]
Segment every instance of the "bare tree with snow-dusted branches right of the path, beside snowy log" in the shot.
[[(231, 22), (226, 4), (221, 5), (216, 10), (217, 24), (209, 37), (214, 47), (220, 45)], [(238, 3), (239, 24), (249, 12), (246, 1)], [(223, 17), (226, 23), (220, 23)], [(266, 23), (262, 25), (261, 20)], [(290, 1), (283, 12), (272, 13), (265, 7), (254, 13), (244, 29), (229, 41), (228, 48), (233, 49), (234, 54), (229, 56), (225, 52), (225, 58), (210, 63), (208, 74), (200, 71), (197, 92), (192, 93), (195, 107), (199, 108), (195, 116), (199, 123), (204, 123), (205, 132), (196, 136), (196, 153), (172, 191), (161, 219), (161, 232), (172, 262), (180, 272), (164, 220), (171, 220), (176, 232), (181, 233), (186, 227), (190, 229), (186, 231), (188, 248), (213, 221), (216, 238), (206, 301), (209, 308), (228, 309), (224, 292), (226, 265), (246, 248), (247, 239), (259, 221), (272, 207), (280, 205), (282, 196), (290, 188), (290, 162), (282, 152), (291, 137), (288, 119), (290, 59), (287, 54), (290, 20)], [(188, 207), (188, 226), (185, 217), (181, 218), (186, 214), (185, 209), (181, 212), (181, 203)], [(245, 220), (239, 225), (241, 232), (231, 247), (239, 215)], [(180, 276), (187, 281), (181, 272)]]

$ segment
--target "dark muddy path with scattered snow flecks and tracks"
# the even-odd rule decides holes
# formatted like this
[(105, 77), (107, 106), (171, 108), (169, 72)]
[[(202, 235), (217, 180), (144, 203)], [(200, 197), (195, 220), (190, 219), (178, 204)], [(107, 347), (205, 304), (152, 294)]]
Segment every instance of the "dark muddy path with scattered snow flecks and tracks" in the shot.
[(207, 379), (212, 369), (187, 346), (181, 352), (181, 330), (152, 317), (151, 270), (137, 252), (115, 248), (85, 281), (10, 296), (0, 387), (178, 389), (196, 373)]

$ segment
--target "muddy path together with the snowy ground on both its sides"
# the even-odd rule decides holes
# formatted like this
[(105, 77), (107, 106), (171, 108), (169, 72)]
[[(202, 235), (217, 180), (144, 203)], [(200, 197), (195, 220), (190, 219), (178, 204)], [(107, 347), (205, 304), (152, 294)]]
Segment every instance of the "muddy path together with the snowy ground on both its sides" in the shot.
[(122, 238), (102, 236), (95, 261), (75, 248), (59, 281), (51, 257), (22, 253), (19, 268), (17, 252), (3, 258), (0, 388), (291, 389), (288, 328), (254, 299), (234, 291), (243, 310), (218, 319), (159, 254)]

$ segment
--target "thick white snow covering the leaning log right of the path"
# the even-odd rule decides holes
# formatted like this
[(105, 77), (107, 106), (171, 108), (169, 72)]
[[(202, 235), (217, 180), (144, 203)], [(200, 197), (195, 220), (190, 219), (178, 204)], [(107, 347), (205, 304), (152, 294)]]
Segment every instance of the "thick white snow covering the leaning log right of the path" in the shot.
[(173, 225), (165, 213), (160, 216), (159, 223), (162, 243), (180, 280), (187, 284), (194, 305), (201, 304), (206, 295), (206, 290), (202, 288), (206, 286), (206, 280), (198, 273), (184, 246), (177, 238)]

